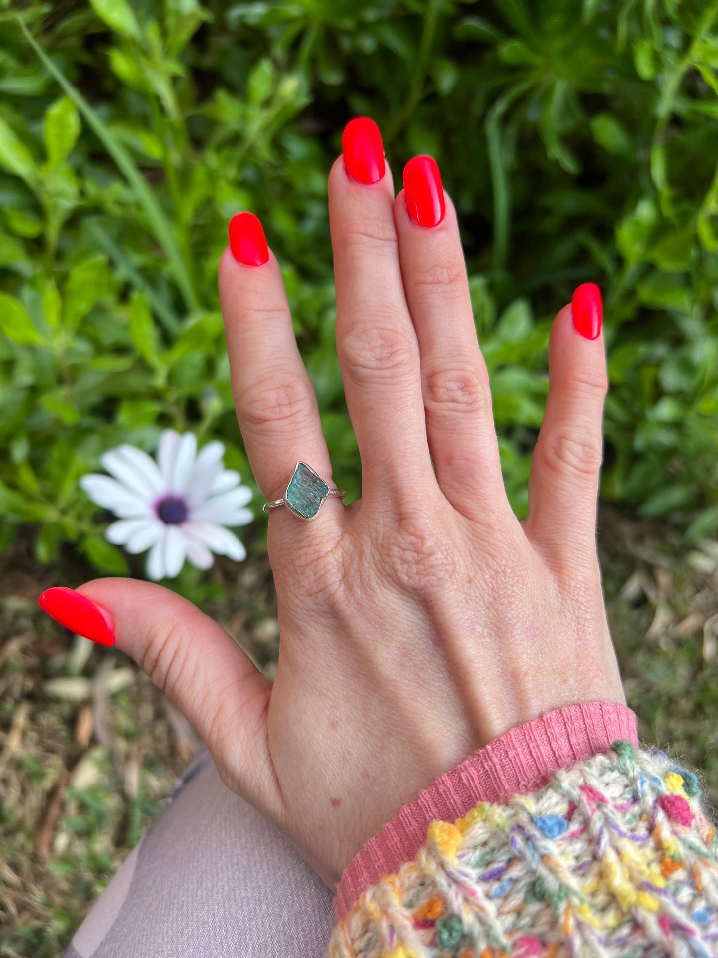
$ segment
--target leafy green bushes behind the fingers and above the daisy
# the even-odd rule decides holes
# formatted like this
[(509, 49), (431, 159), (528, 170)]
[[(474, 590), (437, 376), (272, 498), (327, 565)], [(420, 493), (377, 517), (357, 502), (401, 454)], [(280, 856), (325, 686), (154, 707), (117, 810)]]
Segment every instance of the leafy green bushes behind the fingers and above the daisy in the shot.
[(78, 478), (166, 425), (220, 438), (247, 476), (216, 293), (240, 209), (282, 263), (335, 474), (359, 494), (326, 212), (359, 113), (397, 179), (430, 151), (455, 198), (517, 512), (550, 318), (594, 280), (603, 495), (713, 533), (717, 16), (698, 0), (0, 3), (0, 543), (34, 523), (43, 561), (71, 541), (122, 572)]

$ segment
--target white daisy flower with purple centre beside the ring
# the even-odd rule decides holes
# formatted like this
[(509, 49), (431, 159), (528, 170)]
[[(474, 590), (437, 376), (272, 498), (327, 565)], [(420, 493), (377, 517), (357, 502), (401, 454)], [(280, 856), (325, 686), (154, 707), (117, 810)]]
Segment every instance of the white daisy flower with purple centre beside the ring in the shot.
[(173, 579), (189, 559), (209, 569), (213, 553), (237, 562), (247, 550), (225, 526), (245, 526), (252, 490), (239, 473), (224, 468), (224, 445), (208, 443), (197, 453), (193, 433), (166, 430), (157, 462), (142, 449), (121, 445), (105, 452), (101, 464), (114, 476), (86, 475), (79, 485), (93, 502), (119, 516), (105, 537), (136, 554), (149, 549), (149, 579)]

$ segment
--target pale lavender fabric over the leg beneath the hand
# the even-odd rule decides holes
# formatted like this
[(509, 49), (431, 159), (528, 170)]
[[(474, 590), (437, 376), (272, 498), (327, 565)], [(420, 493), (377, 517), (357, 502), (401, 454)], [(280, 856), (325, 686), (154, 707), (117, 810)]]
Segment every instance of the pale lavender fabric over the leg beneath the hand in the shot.
[(205, 752), (64, 958), (322, 958), (333, 925), (324, 882)]

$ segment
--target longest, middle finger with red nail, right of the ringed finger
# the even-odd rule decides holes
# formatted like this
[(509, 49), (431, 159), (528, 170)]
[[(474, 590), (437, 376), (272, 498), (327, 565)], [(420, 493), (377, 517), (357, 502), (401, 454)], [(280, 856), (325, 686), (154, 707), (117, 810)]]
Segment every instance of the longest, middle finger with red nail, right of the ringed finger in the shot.
[(365, 118), (353, 120), (342, 145), (329, 175), (337, 352), (362, 459), (362, 495), (394, 497), (432, 477), (418, 346), (379, 131)]

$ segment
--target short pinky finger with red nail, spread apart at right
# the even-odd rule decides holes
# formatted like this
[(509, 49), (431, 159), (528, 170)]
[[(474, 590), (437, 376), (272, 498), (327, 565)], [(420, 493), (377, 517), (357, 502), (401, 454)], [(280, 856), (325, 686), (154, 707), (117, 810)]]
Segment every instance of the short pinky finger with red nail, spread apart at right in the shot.
[(533, 453), (524, 531), (551, 567), (595, 562), (595, 516), (608, 385), (601, 294), (579, 286), (549, 342), (549, 398)]

